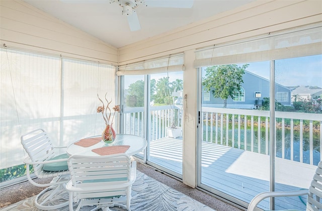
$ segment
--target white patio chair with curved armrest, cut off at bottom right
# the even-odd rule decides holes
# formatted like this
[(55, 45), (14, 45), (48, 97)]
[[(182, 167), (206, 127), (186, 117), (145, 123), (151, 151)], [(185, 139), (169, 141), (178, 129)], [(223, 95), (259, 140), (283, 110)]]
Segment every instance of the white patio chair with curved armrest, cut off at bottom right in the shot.
[[(276, 191), (276, 192), (263, 192), (256, 195), (248, 206), (248, 211), (255, 210), (256, 206), (265, 198), (268, 197), (284, 197), (284, 196), (300, 196), (308, 195), (306, 202), (307, 211), (322, 210), (322, 161), (317, 165), (315, 174), (308, 189), (294, 190), (294, 191)], [(297, 211), (296, 209), (290, 209)], [(286, 211), (286, 210), (283, 210)]]

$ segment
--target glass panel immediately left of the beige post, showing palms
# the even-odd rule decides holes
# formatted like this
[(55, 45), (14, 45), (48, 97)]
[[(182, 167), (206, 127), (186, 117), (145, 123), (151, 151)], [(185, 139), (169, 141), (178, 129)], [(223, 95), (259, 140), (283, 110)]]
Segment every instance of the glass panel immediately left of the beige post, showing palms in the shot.
[(150, 75), (147, 163), (182, 177), (183, 72)]

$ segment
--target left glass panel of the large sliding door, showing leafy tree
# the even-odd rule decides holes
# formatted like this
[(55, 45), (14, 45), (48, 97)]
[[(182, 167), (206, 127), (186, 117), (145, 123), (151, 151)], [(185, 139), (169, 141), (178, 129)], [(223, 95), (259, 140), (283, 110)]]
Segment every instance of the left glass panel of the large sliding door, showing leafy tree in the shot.
[(201, 74), (201, 186), (246, 205), (270, 189), (270, 107), (263, 103), (270, 62), (209, 66)]

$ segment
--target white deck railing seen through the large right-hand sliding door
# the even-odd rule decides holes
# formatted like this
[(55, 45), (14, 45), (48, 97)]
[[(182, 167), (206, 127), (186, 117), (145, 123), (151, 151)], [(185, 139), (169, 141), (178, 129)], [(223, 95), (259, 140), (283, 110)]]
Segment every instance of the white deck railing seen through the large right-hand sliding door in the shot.
[[(252, 152), (263, 153), (261, 142), (265, 142), (265, 154), (269, 154), (269, 111), (260, 110), (239, 110), (239, 109), (220, 109), (220, 108), (202, 108), (202, 119), (205, 133), (202, 133), (202, 140), (207, 142), (213, 142), (216, 144), (226, 145), (238, 149), (241, 148), (241, 144), (244, 144), (244, 150)], [(285, 148), (290, 149), (290, 160), (294, 158), (294, 132), (299, 133), (299, 162), (303, 162), (303, 134), (308, 134), (308, 151), (309, 151), (309, 164), (313, 164), (313, 152), (318, 148), (318, 151), (322, 150), (322, 115), (321, 114), (308, 114), (308, 113), (294, 113), (294, 112), (275, 112), (275, 118), (278, 121), (277, 129), (281, 130), (281, 140), (277, 140), (281, 145), (281, 158), (286, 158)], [(247, 120), (247, 121), (245, 121)], [(289, 122), (289, 125), (285, 122)], [(296, 126), (294, 121), (299, 122)], [(308, 121), (308, 128), (304, 131), (303, 122)], [(316, 122), (315, 134), (319, 139), (318, 143), (313, 141), (313, 122)], [(260, 123), (260, 124), (258, 124)], [(237, 127), (235, 129), (235, 127)], [(241, 128), (247, 130), (241, 130)], [(289, 130), (289, 140), (286, 141), (286, 128)], [(224, 130), (225, 129), (225, 130)], [(228, 129), (228, 130), (227, 130)], [(262, 135), (262, 131), (265, 133), (265, 137)], [(210, 133), (209, 131), (213, 131)], [(257, 131), (257, 134), (255, 134)], [(241, 133), (244, 134), (241, 134)], [(225, 133), (225, 134), (224, 134)], [(235, 135), (235, 133), (237, 133)], [(214, 137), (213, 137), (214, 134)], [(257, 135), (257, 140), (255, 140)], [(275, 133), (276, 135), (276, 133)], [(248, 138), (250, 136), (250, 140)], [(223, 138), (225, 137), (225, 140)], [(237, 137), (237, 138), (235, 138)], [(276, 139), (276, 137), (275, 137)], [(315, 138), (316, 139), (316, 138)], [(245, 140), (245, 142), (244, 142)], [(230, 141), (230, 142), (229, 142)], [(248, 143), (250, 142), (250, 143)], [(286, 146), (289, 144), (290, 146)], [(250, 149), (247, 146), (250, 145)], [(257, 146), (255, 148), (254, 146)], [(275, 148), (276, 149), (276, 148)], [(263, 153), (264, 154), (264, 153)], [(320, 160), (322, 160), (322, 154), (320, 153)]]

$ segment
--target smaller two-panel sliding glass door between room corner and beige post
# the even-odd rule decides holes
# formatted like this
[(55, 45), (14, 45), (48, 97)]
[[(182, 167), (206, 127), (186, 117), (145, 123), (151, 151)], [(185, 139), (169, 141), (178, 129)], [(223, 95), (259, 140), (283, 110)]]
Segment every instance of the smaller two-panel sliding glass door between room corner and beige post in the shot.
[(123, 77), (121, 130), (147, 139), (147, 163), (181, 177), (183, 73)]

